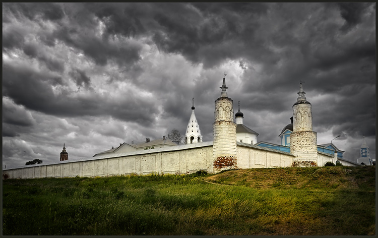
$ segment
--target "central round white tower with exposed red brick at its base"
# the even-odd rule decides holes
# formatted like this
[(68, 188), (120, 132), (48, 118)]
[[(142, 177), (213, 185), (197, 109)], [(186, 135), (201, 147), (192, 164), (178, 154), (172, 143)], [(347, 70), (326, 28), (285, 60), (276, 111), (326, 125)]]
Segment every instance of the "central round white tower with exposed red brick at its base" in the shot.
[(233, 101), (227, 97), (226, 80), (223, 78), (221, 96), (215, 100), (213, 123), (214, 172), (237, 167), (236, 124), (233, 122)]

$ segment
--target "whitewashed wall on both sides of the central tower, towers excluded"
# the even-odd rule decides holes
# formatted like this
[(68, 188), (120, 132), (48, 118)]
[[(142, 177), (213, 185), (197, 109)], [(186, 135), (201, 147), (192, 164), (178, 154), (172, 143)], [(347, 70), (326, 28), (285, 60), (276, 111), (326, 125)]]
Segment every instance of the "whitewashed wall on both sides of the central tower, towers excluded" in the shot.
[[(290, 167), (293, 163), (294, 156), (289, 153), (242, 144), (237, 146), (237, 168)], [(144, 151), (145, 153), (134, 152), (128, 153), (129, 155), (116, 154), (114, 157), (96, 156), (58, 161), (53, 164), (27, 165), (27, 167), (3, 170), (3, 174), (7, 173), (10, 178), (41, 178), (116, 176), (133, 173), (141, 175), (150, 173), (185, 174), (198, 170), (213, 173), (214, 160), (211, 145), (212, 142), (203, 142), (185, 145), (195, 148), (151, 149)]]

